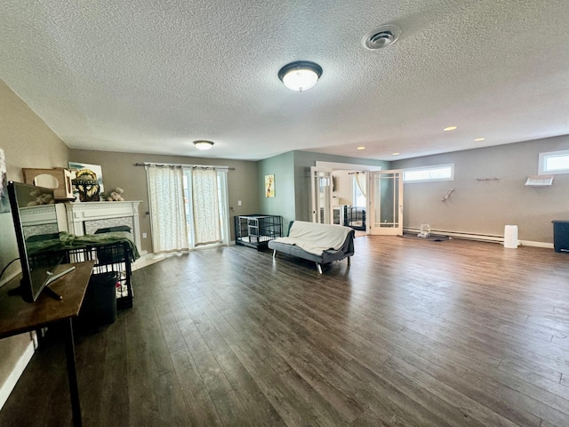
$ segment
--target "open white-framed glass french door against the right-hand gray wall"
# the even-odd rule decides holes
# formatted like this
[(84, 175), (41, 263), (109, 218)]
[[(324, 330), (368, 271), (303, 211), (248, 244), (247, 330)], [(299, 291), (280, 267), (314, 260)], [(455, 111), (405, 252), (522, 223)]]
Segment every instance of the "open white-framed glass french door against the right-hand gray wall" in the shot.
[[(370, 233), (403, 235), (403, 173), (401, 170), (371, 173)], [(369, 193), (369, 191), (368, 191)]]

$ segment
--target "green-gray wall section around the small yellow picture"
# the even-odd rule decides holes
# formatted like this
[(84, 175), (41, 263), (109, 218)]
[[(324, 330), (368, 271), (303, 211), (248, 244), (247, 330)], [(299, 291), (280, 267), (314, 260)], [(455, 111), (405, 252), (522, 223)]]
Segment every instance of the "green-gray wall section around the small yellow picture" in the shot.
[[(258, 162), (260, 212), (248, 214), (280, 215), (283, 217), (283, 233), (294, 220), (294, 156), (293, 151), (269, 157)], [(275, 175), (275, 197), (265, 195), (265, 175)]]

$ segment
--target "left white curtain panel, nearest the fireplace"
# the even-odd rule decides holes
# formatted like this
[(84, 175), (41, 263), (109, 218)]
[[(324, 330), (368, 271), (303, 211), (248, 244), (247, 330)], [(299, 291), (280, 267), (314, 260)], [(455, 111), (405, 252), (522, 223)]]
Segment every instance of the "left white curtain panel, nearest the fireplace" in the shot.
[(147, 165), (146, 170), (153, 252), (187, 251), (188, 222), (182, 168)]

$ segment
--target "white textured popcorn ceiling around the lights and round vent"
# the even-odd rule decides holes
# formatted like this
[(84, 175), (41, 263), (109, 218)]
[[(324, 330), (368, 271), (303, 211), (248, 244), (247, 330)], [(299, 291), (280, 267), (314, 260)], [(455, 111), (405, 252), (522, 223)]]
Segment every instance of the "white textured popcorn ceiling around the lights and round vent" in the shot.
[[(366, 50), (386, 23), (397, 43)], [(0, 58), (76, 149), (393, 160), (569, 134), (567, 0), (3, 0)], [(324, 69), (307, 92), (277, 77), (294, 60)]]

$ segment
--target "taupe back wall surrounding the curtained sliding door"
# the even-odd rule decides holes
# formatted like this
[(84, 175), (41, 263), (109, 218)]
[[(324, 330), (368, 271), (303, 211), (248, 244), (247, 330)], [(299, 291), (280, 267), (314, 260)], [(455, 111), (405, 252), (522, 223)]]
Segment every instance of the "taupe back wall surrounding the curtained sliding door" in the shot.
[[(175, 163), (183, 165), (227, 165), (235, 167), (228, 175), (229, 223), (231, 238), (235, 238), (235, 215), (252, 214), (259, 211), (259, 196), (254, 191), (257, 182), (257, 163), (244, 160), (227, 160), (220, 158), (159, 156), (150, 154), (116, 153), (110, 151), (94, 151), (86, 149), (71, 149), (69, 159), (74, 162), (101, 165), (105, 191), (121, 187), (124, 189), (125, 200), (142, 200), (139, 207), (140, 233), (147, 233), (148, 238), (142, 239), (142, 250), (152, 252), (152, 235), (148, 211), (148, 186), (144, 167), (135, 163)], [(241, 200), (239, 206), (237, 201)], [(141, 238), (142, 236), (140, 236)]]

